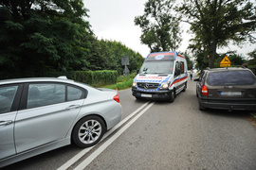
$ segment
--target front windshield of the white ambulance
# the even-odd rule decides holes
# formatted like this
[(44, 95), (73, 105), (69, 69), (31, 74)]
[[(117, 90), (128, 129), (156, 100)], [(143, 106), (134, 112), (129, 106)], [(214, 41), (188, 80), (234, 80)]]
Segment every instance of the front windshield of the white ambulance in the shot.
[(174, 60), (145, 61), (139, 74), (173, 74)]

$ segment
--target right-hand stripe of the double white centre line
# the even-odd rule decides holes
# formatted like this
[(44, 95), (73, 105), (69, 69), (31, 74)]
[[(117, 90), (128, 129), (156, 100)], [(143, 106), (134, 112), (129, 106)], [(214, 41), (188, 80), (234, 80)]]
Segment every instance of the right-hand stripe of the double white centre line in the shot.
[(133, 125), (137, 121), (137, 119), (144, 113), (146, 110), (149, 110), (154, 105), (154, 102), (148, 105), (144, 110), (141, 110), (132, 120), (130, 120), (124, 127), (121, 127), (117, 133), (115, 133), (111, 138), (109, 138), (104, 144), (102, 144), (95, 152), (93, 152), (89, 157), (87, 157), (84, 161), (82, 161), (74, 170), (81, 170), (86, 168), (86, 166), (96, 159), (101, 152), (107, 148), (110, 144), (112, 144), (119, 136), (128, 128)]

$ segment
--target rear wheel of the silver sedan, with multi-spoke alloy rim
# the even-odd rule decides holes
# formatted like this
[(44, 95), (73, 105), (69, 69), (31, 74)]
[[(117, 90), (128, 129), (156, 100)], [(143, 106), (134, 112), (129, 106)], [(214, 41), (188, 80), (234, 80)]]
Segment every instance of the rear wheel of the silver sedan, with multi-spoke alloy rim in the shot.
[(82, 148), (90, 147), (101, 141), (105, 131), (105, 124), (100, 117), (87, 116), (82, 118), (73, 128), (72, 142)]

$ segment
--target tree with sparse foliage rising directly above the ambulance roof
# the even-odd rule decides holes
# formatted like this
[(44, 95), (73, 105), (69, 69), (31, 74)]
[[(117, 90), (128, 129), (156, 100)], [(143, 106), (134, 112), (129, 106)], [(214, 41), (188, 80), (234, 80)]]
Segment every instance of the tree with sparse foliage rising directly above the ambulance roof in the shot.
[(147, 44), (151, 52), (175, 51), (181, 42), (179, 21), (171, 8), (174, 0), (149, 0), (145, 4), (144, 14), (135, 18), (140, 26), (140, 41)]

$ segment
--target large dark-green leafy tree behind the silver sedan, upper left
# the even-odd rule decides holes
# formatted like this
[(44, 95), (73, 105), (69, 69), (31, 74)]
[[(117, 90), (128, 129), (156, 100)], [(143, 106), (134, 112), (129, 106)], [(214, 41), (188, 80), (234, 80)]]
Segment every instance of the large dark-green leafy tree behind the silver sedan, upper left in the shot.
[(86, 66), (93, 33), (82, 0), (0, 1), (0, 70), (20, 76)]

